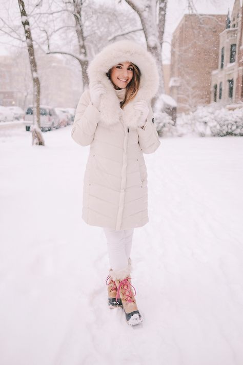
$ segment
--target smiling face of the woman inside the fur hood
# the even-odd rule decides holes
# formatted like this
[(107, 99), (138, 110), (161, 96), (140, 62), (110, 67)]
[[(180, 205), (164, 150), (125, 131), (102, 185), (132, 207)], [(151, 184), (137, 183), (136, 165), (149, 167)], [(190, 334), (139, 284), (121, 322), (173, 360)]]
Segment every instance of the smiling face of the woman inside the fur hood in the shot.
[(112, 67), (110, 77), (115, 86), (125, 89), (132, 80), (133, 66), (130, 62), (120, 62)]

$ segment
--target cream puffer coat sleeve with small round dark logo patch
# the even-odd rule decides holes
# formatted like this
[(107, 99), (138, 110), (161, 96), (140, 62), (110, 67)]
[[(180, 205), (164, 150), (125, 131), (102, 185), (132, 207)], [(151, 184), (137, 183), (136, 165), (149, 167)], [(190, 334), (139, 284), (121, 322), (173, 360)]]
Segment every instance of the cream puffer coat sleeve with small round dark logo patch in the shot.
[(150, 111), (143, 128), (138, 127), (138, 143), (144, 153), (153, 153), (160, 145), (158, 133), (154, 124), (153, 110)]

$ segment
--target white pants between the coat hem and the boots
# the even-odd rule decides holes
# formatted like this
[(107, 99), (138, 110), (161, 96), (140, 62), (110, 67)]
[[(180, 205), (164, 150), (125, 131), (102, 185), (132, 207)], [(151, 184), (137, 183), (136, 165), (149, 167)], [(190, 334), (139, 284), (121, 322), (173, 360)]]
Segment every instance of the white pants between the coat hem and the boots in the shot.
[(113, 230), (104, 228), (107, 239), (108, 255), (112, 270), (122, 270), (127, 267), (132, 249), (132, 229)]

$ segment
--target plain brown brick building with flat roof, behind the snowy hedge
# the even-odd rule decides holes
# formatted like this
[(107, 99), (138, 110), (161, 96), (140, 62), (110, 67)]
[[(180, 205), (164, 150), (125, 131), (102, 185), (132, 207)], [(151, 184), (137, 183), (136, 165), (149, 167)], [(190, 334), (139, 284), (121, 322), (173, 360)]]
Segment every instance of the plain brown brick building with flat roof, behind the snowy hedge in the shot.
[(186, 14), (172, 37), (170, 95), (179, 112), (210, 103), (211, 72), (218, 65), (218, 34), (227, 15)]

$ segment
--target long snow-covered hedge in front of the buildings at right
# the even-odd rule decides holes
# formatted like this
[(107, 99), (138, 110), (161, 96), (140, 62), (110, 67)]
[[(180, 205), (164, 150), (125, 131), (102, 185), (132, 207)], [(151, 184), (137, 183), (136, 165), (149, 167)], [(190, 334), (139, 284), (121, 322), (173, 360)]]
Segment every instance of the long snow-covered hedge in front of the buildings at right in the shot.
[(159, 136), (243, 136), (243, 107), (235, 110), (218, 104), (200, 106), (189, 114), (180, 114), (174, 125), (168, 114), (155, 113)]

